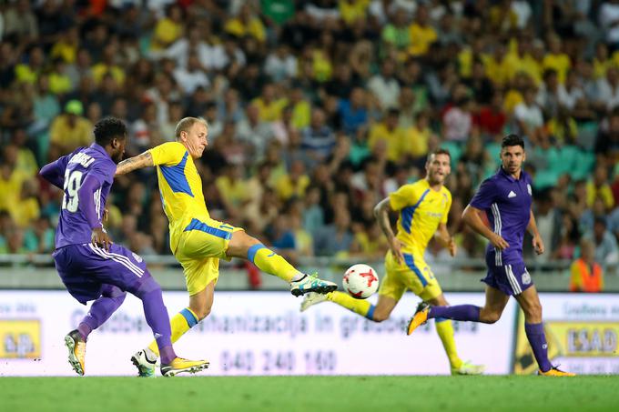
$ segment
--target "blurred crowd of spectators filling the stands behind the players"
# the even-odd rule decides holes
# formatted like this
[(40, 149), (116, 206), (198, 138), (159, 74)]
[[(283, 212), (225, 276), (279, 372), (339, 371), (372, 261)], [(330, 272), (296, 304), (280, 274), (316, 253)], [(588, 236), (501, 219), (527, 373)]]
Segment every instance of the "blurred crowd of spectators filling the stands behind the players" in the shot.
[[(462, 208), (518, 133), (540, 259), (572, 260), (585, 238), (614, 265), (618, 23), (616, 0), (2, 2), (0, 253), (54, 249), (61, 194), (37, 170), (102, 116), (127, 122), (127, 156), (202, 116), (211, 216), (287, 256), (383, 256), (373, 206), (439, 146), (449, 229), (482, 256)], [(116, 242), (169, 253), (154, 170), (117, 179), (107, 209)]]

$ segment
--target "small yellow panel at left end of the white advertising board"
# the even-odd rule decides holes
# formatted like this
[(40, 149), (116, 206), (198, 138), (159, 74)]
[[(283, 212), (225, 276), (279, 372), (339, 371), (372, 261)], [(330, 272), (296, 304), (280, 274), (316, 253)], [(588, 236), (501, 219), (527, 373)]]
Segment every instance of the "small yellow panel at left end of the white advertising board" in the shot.
[(41, 357), (41, 322), (0, 319), (0, 358)]

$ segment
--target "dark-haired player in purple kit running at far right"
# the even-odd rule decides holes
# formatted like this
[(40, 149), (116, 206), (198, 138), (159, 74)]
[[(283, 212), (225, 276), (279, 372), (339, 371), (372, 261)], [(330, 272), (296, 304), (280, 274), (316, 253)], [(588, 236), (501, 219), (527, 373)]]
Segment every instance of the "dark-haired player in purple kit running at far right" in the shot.
[[(467, 225), (490, 241), (486, 249), (488, 275), (483, 279), (485, 305), (429, 306), (422, 302), (411, 318), (408, 334), (433, 317), (492, 324), (501, 317), (510, 296), (514, 296), (523, 308), (524, 330), (540, 367), (539, 375), (573, 377), (575, 374), (553, 367), (548, 359), (542, 305), (533, 279), (524, 266), (525, 229), (533, 236), (535, 252), (541, 255), (544, 251), (531, 209), (533, 181), (522, 169), (525, 159), (523, 138), (505, 136), (501, 145), (501, 169), (482, 182), (462, 214)], [(492, 230), (483, 223), (482, 214), (488, 216)]]

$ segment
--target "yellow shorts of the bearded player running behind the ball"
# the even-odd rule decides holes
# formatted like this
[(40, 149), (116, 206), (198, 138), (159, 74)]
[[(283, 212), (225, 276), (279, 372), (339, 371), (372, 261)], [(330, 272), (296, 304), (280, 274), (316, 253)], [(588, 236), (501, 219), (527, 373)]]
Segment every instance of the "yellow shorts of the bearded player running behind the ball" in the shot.
[(391, 254), (385, 256), (385, 276), (381, 282), (379, 295), (389, 296), (400, 300), (406, 289), (420, 296), (424, 301), (440, 296), (441, 285), (436, 280), (430, 266), (425, 263), (423, 256), (418, 254), (402, 253), (404, 262), (399, 264)]

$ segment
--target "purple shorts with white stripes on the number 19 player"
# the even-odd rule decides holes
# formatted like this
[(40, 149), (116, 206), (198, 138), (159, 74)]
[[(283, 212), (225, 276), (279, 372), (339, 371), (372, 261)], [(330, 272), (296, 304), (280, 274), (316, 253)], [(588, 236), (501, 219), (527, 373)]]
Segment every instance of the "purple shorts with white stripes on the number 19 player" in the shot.
[(107, 251), (91, 244), (69, 245), (53, 256), (66, 290), (84, 305), (101, 296), (104, 285), (134, 293), (150, 276), (144, 260), (123, 246), (112, 245)]

